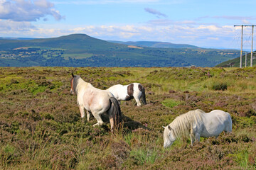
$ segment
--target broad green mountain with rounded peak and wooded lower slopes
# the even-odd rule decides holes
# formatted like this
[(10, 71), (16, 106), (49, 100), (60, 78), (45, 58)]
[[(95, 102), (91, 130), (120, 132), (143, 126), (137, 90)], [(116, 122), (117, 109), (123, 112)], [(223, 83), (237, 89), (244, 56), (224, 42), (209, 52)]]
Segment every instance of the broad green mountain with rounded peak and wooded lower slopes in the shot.
[(0, 40), (1, 67), (213, 67), (238, 55), (238, 50), (124, 45), (85, 34)]

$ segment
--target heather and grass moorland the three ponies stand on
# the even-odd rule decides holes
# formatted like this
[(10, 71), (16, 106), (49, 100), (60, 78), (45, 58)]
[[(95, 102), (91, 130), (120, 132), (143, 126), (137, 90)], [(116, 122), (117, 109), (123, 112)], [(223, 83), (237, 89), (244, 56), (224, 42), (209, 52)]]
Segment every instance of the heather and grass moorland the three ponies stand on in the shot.
[[(0, 67), (0, 169), (255, 169), (256, 67)], [(148, 105), (122, 102), (122, 126), (92, 127), (71, 73), (99, 89), (139, 82)], [(227, 111), (233, 132), (164, 149), (162, 126), (201, 109)]]

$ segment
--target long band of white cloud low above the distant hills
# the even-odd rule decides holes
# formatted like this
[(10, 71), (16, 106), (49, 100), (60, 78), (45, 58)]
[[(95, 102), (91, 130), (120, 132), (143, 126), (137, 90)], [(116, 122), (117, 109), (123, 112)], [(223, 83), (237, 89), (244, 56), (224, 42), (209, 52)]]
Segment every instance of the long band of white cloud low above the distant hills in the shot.
[[(168, 37), (173, 38), (195, 38), (198, 36), (207, 36), (215, 34), (215, 35), (228, 35), (233, 34), (233, 32), (238, 29), (234, 28), (233, 26), (182, 26), (182, 25), (171, 25), (171, 26), (134, 26), (134, 25), (124, 25), (124, 26), (69, 26), (64, 28), (55, 28), (54, 26), (45, 26), (44, 28), (36, 28), (31, 25), (31, 23), (23, 22), (14, 22), (14, 21), (0, 21), (1, 27), (6, 28), (5, 30), (11, 31), (18, 31), (18, 30), (31, 30), (33, 29), (34, 36), (48, 35), (48, 37), (55, 37), (57, 35), (68, 35), (70, 33), (85, 33), (91, 36), (102, 36), (102, 37), (110, 37), (114, 36), (119, 39), (124, 37), (133, 38), (134, 40), (167, 40)], [(7, 29), (7, 27), (9, 27)], [(1, 29), (4, 30), (4, 29)], [(55, 30), (55, 32), (54, 32)], [(227, 34), (228, 33), (228, 34)], [(23, 34), (25, 34), (23, 32)], [(127, 34), (127, 36), (124, 36)], [(26, 35), (26, 34), (25, 34)], [(128, 36), (129, 35), (129, 36)]]

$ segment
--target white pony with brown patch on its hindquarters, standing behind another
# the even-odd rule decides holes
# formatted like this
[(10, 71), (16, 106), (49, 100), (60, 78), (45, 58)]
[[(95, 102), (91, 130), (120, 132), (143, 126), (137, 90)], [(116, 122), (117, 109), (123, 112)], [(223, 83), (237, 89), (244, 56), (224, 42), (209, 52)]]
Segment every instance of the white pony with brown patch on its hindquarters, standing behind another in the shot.
[[(129, 101), (132, 98), (137, 102), (137, 106), (142, 106), (142, 103), (146, 105), (146, 95), (145, 89), (142, 84), (132, 83), (128, 85), (117, 84), (111, 86), (107, 91), (110, 91), (114, 98), (117, 98), (117, 101)], [(140, 99), (142, 98), (142, 103), (140, 103)]]

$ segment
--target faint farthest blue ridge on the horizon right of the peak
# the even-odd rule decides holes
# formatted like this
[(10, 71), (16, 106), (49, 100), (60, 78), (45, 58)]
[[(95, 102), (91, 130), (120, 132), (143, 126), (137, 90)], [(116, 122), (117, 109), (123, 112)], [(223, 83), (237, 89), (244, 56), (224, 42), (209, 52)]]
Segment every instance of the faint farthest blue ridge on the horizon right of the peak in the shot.
[(201, 47), (196, 47), (194, 45), (187, 44), (173, 44), (171, 42), (157, 42), (157, 41), (112, 41), (109, 42), (124, 44), (124, 45), (136, 45), (139, 47), (159, 47), (159, 48), (191, 48), (191, 49), (200, 49)]

